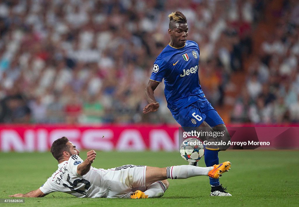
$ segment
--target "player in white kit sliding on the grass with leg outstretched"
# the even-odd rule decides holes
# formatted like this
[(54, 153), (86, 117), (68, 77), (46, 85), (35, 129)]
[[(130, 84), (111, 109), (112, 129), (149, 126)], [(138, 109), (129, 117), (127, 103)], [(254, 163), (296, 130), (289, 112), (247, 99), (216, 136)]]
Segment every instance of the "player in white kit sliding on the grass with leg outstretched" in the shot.
[(79, 157), (80, 151), (66, 137), (53, 142), (51, 153), (59, 164), (45, 184), (37, 190), (10, 197), (44, 197), (52, 192), (65, 192), (80, 198), (161, 197), (169, 186), (167, 178), (186, 179), (200, 175), (219, 178), (231, 165), (230, 162), (223, 162), (206, 168), (191, 165), (167, 168), (123, 165), (108, 170), (97, 169), (91, 166), (96, 152), (87, 152), (87, 159), (83, 161)]

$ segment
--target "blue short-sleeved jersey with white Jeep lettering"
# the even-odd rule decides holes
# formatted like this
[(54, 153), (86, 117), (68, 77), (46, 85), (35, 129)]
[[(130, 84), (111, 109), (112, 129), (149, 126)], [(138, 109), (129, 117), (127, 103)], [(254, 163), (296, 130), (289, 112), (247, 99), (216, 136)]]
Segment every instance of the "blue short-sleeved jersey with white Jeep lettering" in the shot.
[(203, 98), (198, 62), (198, 44), (189, 40), (181, 48), (168, 44), (156, 58), (150, 80), (161, 82), (164, 78), (167, 107), (172, 114)]

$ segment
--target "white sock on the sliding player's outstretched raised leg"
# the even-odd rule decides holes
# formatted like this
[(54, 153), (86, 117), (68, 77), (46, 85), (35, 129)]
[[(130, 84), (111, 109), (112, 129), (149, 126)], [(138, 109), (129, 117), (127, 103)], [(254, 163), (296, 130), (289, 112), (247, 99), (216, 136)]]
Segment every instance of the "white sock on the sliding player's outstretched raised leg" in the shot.
[(170, 179), (186, 179), (190, 177), (208, 175), (210, 170), (213, 170), (214, 167), (197, 167), (192, 165), (177, 165), (167, 167), (166, 174), (167, 178)]

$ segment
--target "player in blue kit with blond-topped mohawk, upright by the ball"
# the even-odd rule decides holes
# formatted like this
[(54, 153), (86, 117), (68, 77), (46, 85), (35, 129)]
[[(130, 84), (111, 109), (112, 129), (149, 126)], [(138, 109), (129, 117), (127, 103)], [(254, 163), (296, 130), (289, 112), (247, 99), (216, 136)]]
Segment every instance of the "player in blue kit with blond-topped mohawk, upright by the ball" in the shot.
[[(202, 141), (225, 141), (228, 143), (230, 135), (222, 118), (206, 99), (200, 86), (199, 47), (196, 42), (187, 40), (187, 19), (180, 11), (169, 16), (170, 43), (156, 58), (150, 80), (145, 89), (148, 105), (143, 112), (155, 112), (159, 103), (155, 100), (154, 90), (164, 78), (165, 98), (176, 121), (184, 127), (196, 127), (197, 131), (222, 132), (224, 136), (217, 138), (203, 137)], [(218, 151), (226, 150), (229, 145), (211, 144), (205, 146), (205, 164), (213, 166), (219, 164)], [(190, 163), (197, 165), (197, 162)], [(211, 196), (231, 196), (226, 192), (219, 179), (210, 178)]]

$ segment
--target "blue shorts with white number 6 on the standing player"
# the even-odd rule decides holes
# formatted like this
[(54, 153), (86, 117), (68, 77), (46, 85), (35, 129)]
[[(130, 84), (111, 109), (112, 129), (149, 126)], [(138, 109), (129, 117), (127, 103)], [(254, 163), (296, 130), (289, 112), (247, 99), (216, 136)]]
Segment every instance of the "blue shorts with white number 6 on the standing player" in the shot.
[(173, 115), (173, 118), (182, 127), (199, 127), (202, 122), (207, 122), (210, 127), (224, 124), (222, 118), (206, 98), (194, 102)]

